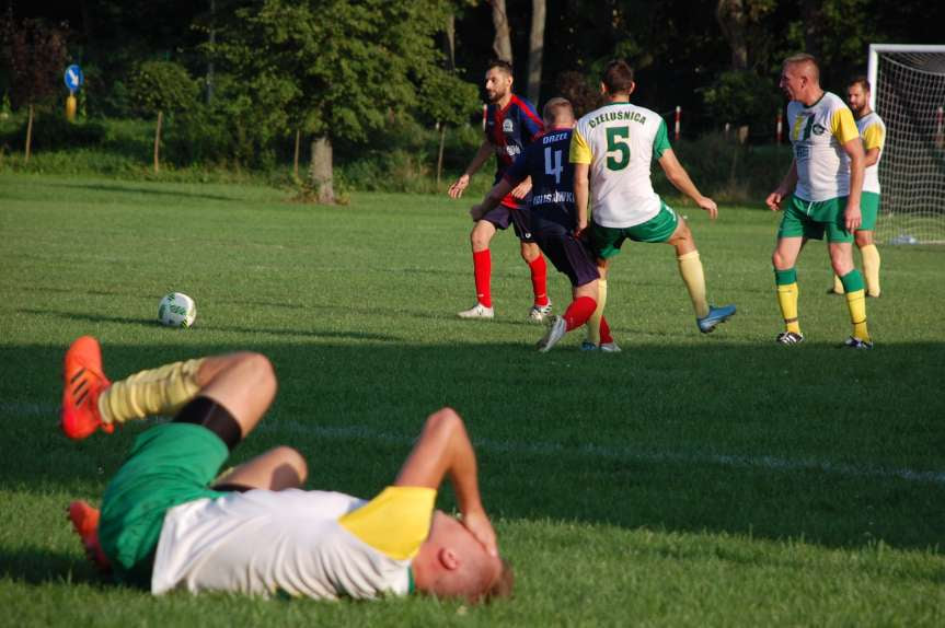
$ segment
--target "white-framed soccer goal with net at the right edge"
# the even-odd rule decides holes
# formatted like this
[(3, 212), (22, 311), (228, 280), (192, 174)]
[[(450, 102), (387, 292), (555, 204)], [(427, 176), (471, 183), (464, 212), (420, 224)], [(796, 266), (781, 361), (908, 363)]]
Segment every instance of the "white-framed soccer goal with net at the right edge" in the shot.
[(945, 244), (945, 46), (869, 46), (871, 106), (886, 123), (878, 242)]

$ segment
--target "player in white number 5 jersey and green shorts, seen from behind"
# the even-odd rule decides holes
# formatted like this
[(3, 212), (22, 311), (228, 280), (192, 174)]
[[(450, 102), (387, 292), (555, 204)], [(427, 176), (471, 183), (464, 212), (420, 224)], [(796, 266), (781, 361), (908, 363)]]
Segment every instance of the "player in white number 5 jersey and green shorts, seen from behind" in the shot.
[(600, 317), (607, 303), (610, 260), (625, 240), (661, 242), (676, 248), (679, 274), (695, 310), (699, 330), (707, 334), (735, 314), (734, 305), (713, 307), (705, 296), (705, 276), (692, 232), (653, 190), (650, 162), (656, 159), (676, 188), (715, 219), (718, 208), (702, 196), (676, 159), (666, 133), (666, 123), (656, 112), (630, 103), (636, 89), (633, 68), (625, 61), (608, 63), (601, 92), (610, 101), (577, 123), (571, 142), (578, 232), (587, 226), (587, 201), (592, 189), (590, 246), (600, 271), (597, 311), (584, 347), (602, 341)]

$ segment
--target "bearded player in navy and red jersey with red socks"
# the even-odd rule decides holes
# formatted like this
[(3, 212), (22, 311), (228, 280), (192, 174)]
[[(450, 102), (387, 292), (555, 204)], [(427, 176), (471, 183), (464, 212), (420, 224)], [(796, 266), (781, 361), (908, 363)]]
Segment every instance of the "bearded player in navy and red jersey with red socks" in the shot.
[[(488, 98), (486, 109), (485, 138), (470, 162), (465, 172), (449, 188), (451, 198), (460, 198), (469, 186), (470, 177), (488, 160), (496, 155), (495, 182), (498, 183), (505, 171), (521, 154), (525, 147), (542, 133), (544, 127), (531, 103), (511, 92), (512, 71), (507, 61), (489, 62), (485, 74), (485, 93)], [(528, 228), (528, 193), (531, 182), (526, 179), (512, 189), (499, 206), (487, 214), (476, 217), (470, 233), (473, 252), (473, 272), (475, 277), (476, 304), (460, 312), (460, 318), (493, 318), (492, 304), (492, 254), (489, 242), (497, 230), (512, 230), (521, 241), (521, 257), (531, 272), (534, 303), (529, 311), (530, 321), (540, 322), (551, 313), (548, 298), (548, 266), (544, 257)]]

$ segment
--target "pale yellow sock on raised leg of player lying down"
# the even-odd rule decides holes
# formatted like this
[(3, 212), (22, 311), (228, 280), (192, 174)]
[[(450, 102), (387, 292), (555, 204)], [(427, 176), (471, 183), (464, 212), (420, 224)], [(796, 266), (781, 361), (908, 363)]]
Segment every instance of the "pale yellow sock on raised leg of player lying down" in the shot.
[(204, 358), (140, 371), (115, 382), (99, 397), (105, 423), (124, 423), (153, 415), (173, 415), (200, 391), (197, 372)]

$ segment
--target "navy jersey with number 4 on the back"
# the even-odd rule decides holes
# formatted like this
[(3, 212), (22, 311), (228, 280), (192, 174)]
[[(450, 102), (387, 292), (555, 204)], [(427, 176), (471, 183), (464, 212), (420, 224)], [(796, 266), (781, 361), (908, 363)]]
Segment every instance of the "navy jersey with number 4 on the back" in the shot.
[(548, 223), (573, 231), (577, 226), (574, 205), (574, 164), (568, 160), (572, 129), (552, 129), (526, 147), (525, 152), (506, 171), (512, 186), (531, 176), (531, 229)]

